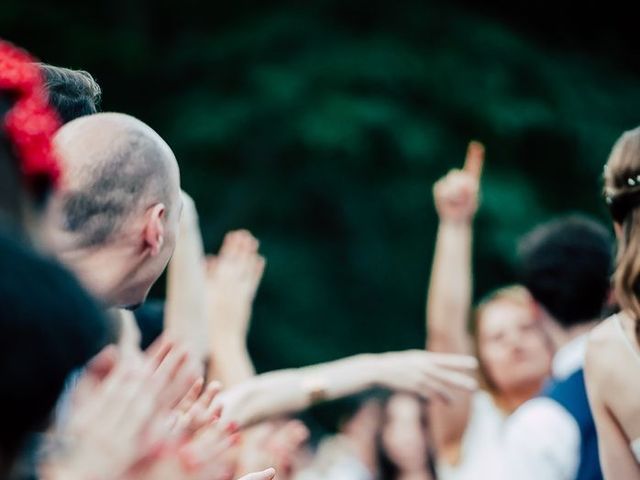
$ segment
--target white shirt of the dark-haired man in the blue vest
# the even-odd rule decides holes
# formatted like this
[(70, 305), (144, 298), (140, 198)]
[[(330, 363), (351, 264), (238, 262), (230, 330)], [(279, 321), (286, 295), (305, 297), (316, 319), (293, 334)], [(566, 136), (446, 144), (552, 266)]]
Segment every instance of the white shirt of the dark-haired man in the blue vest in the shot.
[[(562, 347), (553, 359), (553, 377), (562, 381), (582, 368), (587, 335)], [(505, 424), (502, 461), (494, 478), (573, 480), (580, 465), (580, 427), (573, 416), (550, 398), (534, 398)]]

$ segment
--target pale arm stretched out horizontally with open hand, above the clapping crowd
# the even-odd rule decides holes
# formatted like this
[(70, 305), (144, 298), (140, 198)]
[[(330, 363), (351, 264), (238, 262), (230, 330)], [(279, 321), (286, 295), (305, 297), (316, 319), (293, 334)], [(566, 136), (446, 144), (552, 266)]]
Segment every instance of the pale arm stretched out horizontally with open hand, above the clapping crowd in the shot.
[(454, 390), (473, 390), (473, 357), (420, 350), (364, 354), (311, 367), (259, 375), (219, 396), (223, 419), (239, 426), (296, 412), (371, 387), (449, 400)]

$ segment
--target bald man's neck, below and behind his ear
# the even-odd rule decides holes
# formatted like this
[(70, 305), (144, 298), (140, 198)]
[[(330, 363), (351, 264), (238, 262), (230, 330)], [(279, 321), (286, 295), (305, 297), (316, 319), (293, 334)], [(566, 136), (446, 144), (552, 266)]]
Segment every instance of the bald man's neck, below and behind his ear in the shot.
[(58, 254), (87, 288), (105, 306), (118, 306), (135, 265), (127, 248), (119, 245), (70, 249)]

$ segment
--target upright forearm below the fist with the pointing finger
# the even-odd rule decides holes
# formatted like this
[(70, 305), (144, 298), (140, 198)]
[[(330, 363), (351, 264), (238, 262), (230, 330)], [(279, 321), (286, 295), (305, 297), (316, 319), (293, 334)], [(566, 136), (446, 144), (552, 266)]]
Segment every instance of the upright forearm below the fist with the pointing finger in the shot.
[(469, 350), (471, 248), (470, 221), (440, 223), (426, 308), (429, 350), (451, 353)]

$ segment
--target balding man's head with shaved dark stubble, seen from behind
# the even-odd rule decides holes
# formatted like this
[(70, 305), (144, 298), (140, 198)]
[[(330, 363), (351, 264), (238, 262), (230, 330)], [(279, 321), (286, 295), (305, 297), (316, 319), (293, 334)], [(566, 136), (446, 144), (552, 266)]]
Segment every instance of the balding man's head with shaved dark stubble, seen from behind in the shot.
[[(175, 246), (180, 174), (171, 149), (149, 126), (120, 113), (98, 113), (67, 123), (56, 134), (55, 146), (64, 173), (51, 202), (50, 224), (63, 239), (52, 242), (54, 250), (76, 258), (69, 253), (97, 255), (117, 249), (118, 261), (136, 266), (127, 273), (136, 283), (136, 293), (130, 291), (127, 296), (135, 298), (115, 303), (137, 303)], [(102, 293), (104, 286), (98, 287)]]

